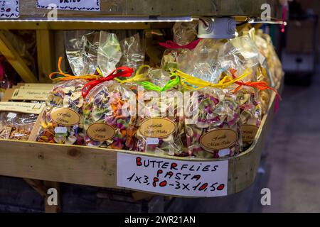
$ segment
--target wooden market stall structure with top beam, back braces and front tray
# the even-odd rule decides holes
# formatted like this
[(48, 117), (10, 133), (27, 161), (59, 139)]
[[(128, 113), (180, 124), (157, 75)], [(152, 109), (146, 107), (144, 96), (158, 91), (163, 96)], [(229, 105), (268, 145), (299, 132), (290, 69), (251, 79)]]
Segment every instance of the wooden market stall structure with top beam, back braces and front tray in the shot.
[[(277, 1), (109, 1), (101, 0), (100, 12), (58, 11), (57, 21), (48, 21), (48, 9), (36, 9), (36, 0), (20, 1), (20, 17), (0, 18), (0, 52), (18, 72), (24, 82), (46, 82), (55, 70), (57, 56), (64, 52), (57, 33), (62, 30), (117, 30), (168, 28), (172, 21), (189, 16), (234, 16), (237, 21), (259, 18), (261, 5), (272, 6), (272, 17), (279, 18)], [(161, 17), (159, 17), (161, 16)], [(134, 20), (134, 22), (130, 22)], [(169, 20), (169, 22), (164, 22)], [(152, 21), (152, 22), (150, 22)], [(159, 21), (159, 22), (156, 22)], [(38, 75), (33, 74), (18, 55), (6, 30), (35, 30)], [(280, 91), (282, 84), (277, 84)], [(228, 195), (242, 191), (255, 180), (262, 148), (272, 122), (275, 95), (257, 132), (255, 143), (244, 153), (228, 159)], [(97, 187), (117, 187), (117, 154), (132, 153), (124, 150), (88, 148), (77, 145), (57, 145), (36, 142), (0, 141), (0, 175), (21, 177), (45, 199), (46, 190), (58, 182)], [(137, 154), (137, 153), (132, 153)], [(148, 154), (140, 154), (150, 156)], [(181, 160), (179, 157), (164, 157)], [(223, 160), (223, 159), (222, 159)], [(222, 161), (217, 160), (217, 161)], [(191, 160), (206, 162), (208, 160)], [(139, 199), (150, 192), (133, 192)], [(46, 211), (59, 211), (58, 206), (46, 206)]]

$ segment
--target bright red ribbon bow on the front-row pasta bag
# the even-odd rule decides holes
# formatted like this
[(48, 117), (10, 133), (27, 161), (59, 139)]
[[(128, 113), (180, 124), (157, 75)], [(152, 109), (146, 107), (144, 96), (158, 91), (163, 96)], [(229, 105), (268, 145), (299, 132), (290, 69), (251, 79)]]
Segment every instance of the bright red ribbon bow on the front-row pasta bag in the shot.
[(82, 96), (83, 98), (87, 97), (87, 94), (89, 94), (92, 88), (94, 88), (98, 84), (101, 84), (106, 81), (110, 81), (115, 77), (131, 77), (133, 72), (134, 72), (134, 69), (129, 68), (127, 66), (118, 67), (117, 69), (113, 70), (107, 77), (102, 79), (96, 79), (92, 82), (88, 82), (87, 84), (85, 84), (85, 86), (82, 88)]

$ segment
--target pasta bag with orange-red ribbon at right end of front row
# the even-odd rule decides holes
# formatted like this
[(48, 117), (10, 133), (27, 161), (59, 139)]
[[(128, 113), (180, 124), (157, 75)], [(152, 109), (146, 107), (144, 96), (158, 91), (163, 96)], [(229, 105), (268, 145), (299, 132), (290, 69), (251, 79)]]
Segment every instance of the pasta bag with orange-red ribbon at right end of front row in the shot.
[[(240, 109), (240, 124), (243, 148), (248, 148), (255, 140), (255, 135), (261, 124), (262, 107), (260, 104), (259, 86), (256, 86), (257, 75), (260, 73), (260, 52), (253, 40), (247, 36), (241, 36), (225, 43), (225, 52), (222, 65), (230, 65), (228, 74), (237, 78), (242, 72), (250, 69), (250, 74), (239, 82), (230, 85), (228, 89), (233, 92), (238, 99)], [(261, 74), (259, 74), (261, 77)], [(265, 91), (266, 92), (266, 91)]]

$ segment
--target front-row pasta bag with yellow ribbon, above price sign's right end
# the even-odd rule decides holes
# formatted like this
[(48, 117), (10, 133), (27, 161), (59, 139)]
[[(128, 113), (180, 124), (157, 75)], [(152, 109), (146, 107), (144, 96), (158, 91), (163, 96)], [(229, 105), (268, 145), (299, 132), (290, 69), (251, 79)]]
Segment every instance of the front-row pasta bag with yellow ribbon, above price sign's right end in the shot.
[(242, 140), (237, 96), (223, 89), (235, 79), (212, 84), (179, 70), (175, 74), (190, 96), (184, 113), (188, 154), (205, 159), (238, 155)]

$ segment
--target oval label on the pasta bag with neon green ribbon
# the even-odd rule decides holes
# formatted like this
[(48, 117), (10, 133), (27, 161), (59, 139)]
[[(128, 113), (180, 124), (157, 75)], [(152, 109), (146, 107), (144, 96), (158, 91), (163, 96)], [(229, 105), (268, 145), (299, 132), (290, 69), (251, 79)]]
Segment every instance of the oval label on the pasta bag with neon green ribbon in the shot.
[(176, 124), (167, 118), (149, 118), (142, 122), (139, 132), (146, 138), (165, 138), (176, 131)]

